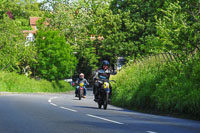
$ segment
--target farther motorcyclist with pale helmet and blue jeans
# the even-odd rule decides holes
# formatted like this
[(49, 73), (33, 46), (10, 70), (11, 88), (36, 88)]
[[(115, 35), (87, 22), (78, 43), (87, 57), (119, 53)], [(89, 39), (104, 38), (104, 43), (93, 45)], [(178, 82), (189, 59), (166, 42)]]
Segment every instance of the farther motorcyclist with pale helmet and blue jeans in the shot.
[(85, 87), (85, 85), (89, 85), (89, 83), (88, 83), (87, 79), (84, 78), (83, 73), (80, 73), (79, 78), (77, 78), (77, 80), (75, 82), (76, 84), (78, 84), (76, 87), (76, 90), (75, 90), (75, 97), (78, 97), (79, 83), (81, 83), (81, 82), (84, 83), (84, 96), (83, 97), (86, 98), (87, 88)]

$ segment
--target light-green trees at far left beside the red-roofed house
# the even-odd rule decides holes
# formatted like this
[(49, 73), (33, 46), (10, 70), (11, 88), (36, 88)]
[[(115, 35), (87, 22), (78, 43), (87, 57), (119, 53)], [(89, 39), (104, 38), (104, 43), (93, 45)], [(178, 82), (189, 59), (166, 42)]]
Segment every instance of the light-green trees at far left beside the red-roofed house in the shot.
[(22, 31), (32, 29), (29, 24), (30, 16), (41, 16), (39, 6), (35, 0), (0, 1), (1, 70), (22, 74), (26, 67), (35, 62), (34, 46), (32, 43), (25, 45)]

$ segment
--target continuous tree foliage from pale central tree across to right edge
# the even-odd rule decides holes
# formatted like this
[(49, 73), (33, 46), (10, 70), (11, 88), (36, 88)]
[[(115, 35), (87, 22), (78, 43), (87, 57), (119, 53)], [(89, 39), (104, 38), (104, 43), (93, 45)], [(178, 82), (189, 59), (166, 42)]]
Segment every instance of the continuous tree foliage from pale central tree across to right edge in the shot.
[[(180, 53), (198, 48), (199, 18), (197, 8), (192, 8), (197, 5), (195, 0), (50, 3), (54, 11), (48, 14), (50, 27), (62, 31), (78, 52), (78, 72), (90, 73), (102, 59), (115, 63), (117, 56), (132, 60), (163, 51)], [(96, 40), (90, 41), (90, 35)], [(104, 39), (99, 41), (99, 35)]]

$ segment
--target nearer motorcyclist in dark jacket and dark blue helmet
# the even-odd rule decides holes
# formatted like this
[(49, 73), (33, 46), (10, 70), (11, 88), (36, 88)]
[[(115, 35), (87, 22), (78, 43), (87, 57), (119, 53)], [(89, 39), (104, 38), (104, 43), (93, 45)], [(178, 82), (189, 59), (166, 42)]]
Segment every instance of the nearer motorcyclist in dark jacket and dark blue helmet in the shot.
[[(110, 78), (111, 70), (109, 69), (109, 61), (103, 60), (101, 68), (97, 69), (95, 72), (95, 76), (93, 77), (94, 80), (94, 88), (93, 88), (93, 94), (94, 94), (94, 101), (98, 101), (98, 95), (99, 95), (99, 88), (100, 83), (98, 82), (99, 79), (108, 80)], [(112, 87), (109, 83), (110, 93), (109, 93), (109, 101), (112, 95)]]

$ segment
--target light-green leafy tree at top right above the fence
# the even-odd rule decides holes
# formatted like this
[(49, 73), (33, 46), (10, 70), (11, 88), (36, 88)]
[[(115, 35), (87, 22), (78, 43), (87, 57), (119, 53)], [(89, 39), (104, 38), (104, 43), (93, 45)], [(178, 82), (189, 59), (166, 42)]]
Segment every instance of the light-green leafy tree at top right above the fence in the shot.
[[(196, 5), (196, 8), (191, 8)], [(194, 6), (195, 7), (195, 6)], [(156, 29), (162, 51), (172, 51), (187, 56), (199, 49), (199, 16), (198, 4), (194, 1), (169, 3), (165, 10), (161, 9), (162, 18), (156, 17)]]

